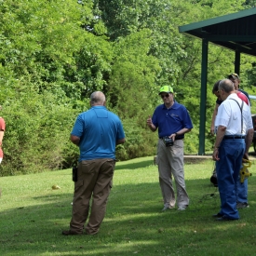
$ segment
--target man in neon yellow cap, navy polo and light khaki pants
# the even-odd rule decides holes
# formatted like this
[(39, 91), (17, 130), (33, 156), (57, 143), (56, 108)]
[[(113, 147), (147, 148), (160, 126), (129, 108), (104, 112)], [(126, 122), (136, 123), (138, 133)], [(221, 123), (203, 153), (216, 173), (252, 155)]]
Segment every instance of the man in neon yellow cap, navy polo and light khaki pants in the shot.
[(147, 119), (147, 125), (152, 131), (158, 128), (156, 164), (164, 199), (163, 211), (175, 207), (172, 175), (177, 189), (178, 209), (184, 210), (189, 205), (189, 197), (184, 181), (183, 138), (184, 133), (191, 131), (193, 125), (187, 109), (174, 101), (173, 88), (164, 86), (160, 88), (159, 95), (164, 104), (155, 108), (153, 117)]

